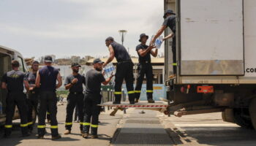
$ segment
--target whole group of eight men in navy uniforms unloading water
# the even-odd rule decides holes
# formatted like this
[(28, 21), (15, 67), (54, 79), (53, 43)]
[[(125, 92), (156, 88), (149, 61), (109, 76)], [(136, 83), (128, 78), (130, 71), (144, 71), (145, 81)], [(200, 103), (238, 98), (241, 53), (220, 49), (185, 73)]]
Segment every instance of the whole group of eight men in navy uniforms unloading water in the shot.
[[(158, 50), (154, 42), (165, 28), (169, 27), (173, 33), (164, 37), (163, 40), (173, 38), (173, 72), (176, 74), (176, 15), (171, 9), (168, 9), (164, 15), (165, 21), (157, 34), (146, 45), (148, 36), (140, 34), (140, 44), (136, 47), (139, 56), (138, 80), (135, 90), (133, 87), (134, 76), (132, 59), (126, 48), (115, 42), (113, 37), (105, 39), (105, 44), (110, 52), (110, 57), (106, 62), (99, 58), (94, 59), (93, 69), (86, 73), (86, 76), (79, 74), (80, 64), (73, 63), (72, 74), (67, 76), (64, 85), (69, 90), (67, 96), (67, 116), (65, 121), (66, 131), (64, 134), (71, 134), (72, 115), (75, 107), (78, 109), (78, 118), (80, 120), (80, 133), (83, 138), (88, 138), (91, 129), (91, 138), (97, 138), (97, 128), (99, 123), (99, 112), (102, 95), (100, 94), (101, 85), (108, 85), (108, 82), (115, 76), (115, 101), (113, 104), (121, 104), (121, 85), (125, 80), (129, 104), (135, 104), (140, 99), (140, 91), (144, 76), (146, 75), (146, 94), (148, 103), (154, 103), (153, 99), (153, 69), (151, 65), (151, 55), (157, 56)], [(111, 74), (105, 79), (103, 68), (116, 58), (116, 74)], [(1, 88), (7, 90), (7, 109), (4, 137), (10, 137), (12, 132), (12, 117), (17, 105), (20, 113), (20, 128), (23, 137), (29, 137), (33, 130), (34, 121), (32, 118), (33, 108), (37, 108), (37, 137), (43, 139), (45, 136), (45, 118), (48, 115), (50, 121), (50, 131), (52, 139), (60, 139), (58, 131), (57, 98), (56, 89), (61, 87), (62, 80), (59, 70), (52, 66), (53, 58), (45, 56), (45, 66), (39, 69), (39, 62), (34, 61), (31, 65), (32, 71), (24, 73), (19, 71), (19, 62), (12, 61), (12, 71), (4, 74), (1, 80)], [(57, 82), (57, 84), (56, 84)], [(83, 89), (85, 85), (85, 89)], [(26, 93), (24, 93), (24, 87)]]

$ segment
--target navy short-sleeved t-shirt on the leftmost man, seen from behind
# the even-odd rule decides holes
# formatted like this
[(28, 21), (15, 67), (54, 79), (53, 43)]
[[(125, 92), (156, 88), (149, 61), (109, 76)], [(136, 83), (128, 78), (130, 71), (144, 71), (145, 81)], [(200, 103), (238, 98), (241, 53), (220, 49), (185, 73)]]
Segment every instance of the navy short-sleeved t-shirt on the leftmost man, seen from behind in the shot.
[(25, 78), (25, 73), (21, 71), (12, 70), (4, 74), (1, 82), (7, 84), (7, 90), (10, 93), (22, 93), (24, 91), (23, 81)]

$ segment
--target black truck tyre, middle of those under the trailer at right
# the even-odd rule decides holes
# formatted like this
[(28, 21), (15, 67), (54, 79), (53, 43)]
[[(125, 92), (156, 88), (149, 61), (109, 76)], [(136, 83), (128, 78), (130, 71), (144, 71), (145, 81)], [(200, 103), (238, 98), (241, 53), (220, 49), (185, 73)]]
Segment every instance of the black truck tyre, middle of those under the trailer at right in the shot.
[(252, 121), (249, 116), (244, 115), (244, 112), (249, 112), (248, 109), (240, 108), (234, 109), (234, 121), (238, 126), (242, 128), (253, 128)]

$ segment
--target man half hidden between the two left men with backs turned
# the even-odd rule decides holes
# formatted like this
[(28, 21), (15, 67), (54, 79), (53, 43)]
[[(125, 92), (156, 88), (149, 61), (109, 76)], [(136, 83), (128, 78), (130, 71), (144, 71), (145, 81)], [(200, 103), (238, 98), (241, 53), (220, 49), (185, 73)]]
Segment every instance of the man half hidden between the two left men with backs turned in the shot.
[[(26, 91), (27, 91), (27, 106), (28, 106), (28, 128), (29, 131), (33, 131), (33, 109), (37, 110), (37, 104), (39, 99), (39, 88), (36, 87), (37, 71), (39, 68), (39, 62), (33, 61), (31, 64), (32, 72), (26, 74)], [(37, 113), (37, 112), (36, 112)]]

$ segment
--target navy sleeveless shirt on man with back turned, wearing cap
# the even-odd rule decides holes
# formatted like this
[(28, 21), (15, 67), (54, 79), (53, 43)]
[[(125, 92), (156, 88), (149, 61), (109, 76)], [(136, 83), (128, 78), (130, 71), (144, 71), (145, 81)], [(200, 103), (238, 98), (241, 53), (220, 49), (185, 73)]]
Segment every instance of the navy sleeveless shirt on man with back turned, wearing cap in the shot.
[(44, 66), (39, 69), (40, 91), (56, 91), (56, 80), (59, 70), (53, 66)]

